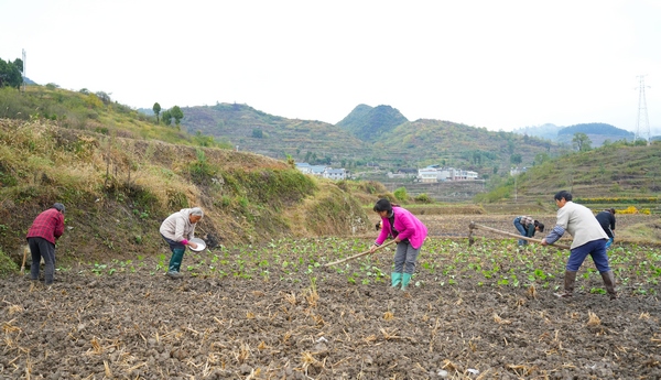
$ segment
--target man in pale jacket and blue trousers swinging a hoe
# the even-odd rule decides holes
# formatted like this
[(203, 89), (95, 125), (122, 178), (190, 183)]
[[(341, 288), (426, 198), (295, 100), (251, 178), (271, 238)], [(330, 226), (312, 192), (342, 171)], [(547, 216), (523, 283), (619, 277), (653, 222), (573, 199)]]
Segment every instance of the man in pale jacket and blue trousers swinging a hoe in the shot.
[(559, 207), (557, 221), (549, 235), (542, 239), (542, 246), (554, 243), (565, 231), (568, 231), (574, 237), (564, 276), (564, 292), (555, 295), (561, 298), (572, 296), (574, 283), (576, 282), (576, 272), (589, 254), (602, 274), (606, 292), (610, 296), (610, 300), (617, 298), (615, 274), (610, 270), (608, 254), (606, 253), (608, 236), (602, 229), (597, 218), (595, 218), (589, 208), (573, 203), (570, 192), (559, 192), (554, 198)]

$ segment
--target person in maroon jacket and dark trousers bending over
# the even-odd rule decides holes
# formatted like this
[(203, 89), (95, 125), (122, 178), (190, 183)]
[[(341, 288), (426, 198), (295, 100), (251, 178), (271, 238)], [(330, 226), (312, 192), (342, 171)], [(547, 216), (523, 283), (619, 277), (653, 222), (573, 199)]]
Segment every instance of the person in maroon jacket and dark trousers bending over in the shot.
[(56, 203), (53, 207), (37, 215), (28, 231), (28, 246), (32, 253), (30, 279), (39, 279), (39, 264), (44, 258), (44, 282), (53, 284), (55, 273), (55, 241), (64, 234), (64, 205)]

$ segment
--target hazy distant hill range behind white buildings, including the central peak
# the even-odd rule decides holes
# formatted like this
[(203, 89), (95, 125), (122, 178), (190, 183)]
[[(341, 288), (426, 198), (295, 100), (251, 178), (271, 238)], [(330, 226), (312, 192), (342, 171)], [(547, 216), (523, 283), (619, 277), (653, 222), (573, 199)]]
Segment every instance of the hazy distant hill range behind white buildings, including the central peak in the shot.
[[(329, 164), (354, 172), (379, 165), (397, 171), (441, 164), (474, 170), (480, 177), (531, 166), (560, 154), (557, 145), (511, 132), (491, 132), (440, 120), (405, 121), (389, 106), (358, 106), (338, 126), (291, 120), (245, 105), (188, 107), (183, 128), (272, 158)], [(397, 122), (401, 122), (397, 124)], [(350, 131), (348, 131), (350, 129)], [(361, 141), (359, 137), (369, 141)], [(519, 158), (513, 160), (512, 156)]]

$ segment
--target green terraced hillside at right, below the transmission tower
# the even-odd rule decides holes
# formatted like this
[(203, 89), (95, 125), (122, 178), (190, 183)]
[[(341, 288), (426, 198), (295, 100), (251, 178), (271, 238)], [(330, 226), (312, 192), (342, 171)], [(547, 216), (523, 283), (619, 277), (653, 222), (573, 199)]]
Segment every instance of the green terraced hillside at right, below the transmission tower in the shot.
[(564, 155), (535, 165), (476, 199), (503, 202), (516, 197), (521, 203), (552, 203), (553, 194), (561, 189), (572, 192), (584, 203), (632, 203), (658, 208), (661, 142), (649, 146), (618, 142)]

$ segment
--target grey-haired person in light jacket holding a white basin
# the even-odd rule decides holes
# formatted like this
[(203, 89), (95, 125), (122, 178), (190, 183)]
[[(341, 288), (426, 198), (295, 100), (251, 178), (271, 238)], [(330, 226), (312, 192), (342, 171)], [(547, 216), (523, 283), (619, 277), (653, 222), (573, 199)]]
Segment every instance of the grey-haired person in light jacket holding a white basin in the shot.
[(170, 265), (167, 267), (167, 275), (177, 279), (181, 276), (180, 270), (186, 246), (197, 248), (197, 245), (189, 241), (195, 237), (195, 226), (204, 216), (204, 211), (199, 207), (183, 208), (177, 213), (170, 215), (163, 224), (161, 224), (161, 236), (172, 251)]

